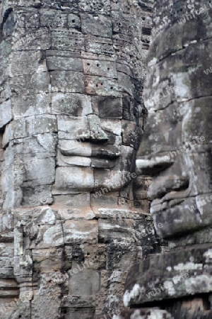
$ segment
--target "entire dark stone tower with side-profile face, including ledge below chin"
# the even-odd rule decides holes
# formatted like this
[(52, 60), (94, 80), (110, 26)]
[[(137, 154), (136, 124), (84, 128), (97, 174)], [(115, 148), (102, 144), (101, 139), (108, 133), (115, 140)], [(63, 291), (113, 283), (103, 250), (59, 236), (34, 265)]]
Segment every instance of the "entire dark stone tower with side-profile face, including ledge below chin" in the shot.
[(171, 251), (134, 266), (124, 303), (147, 306), (149, 314), (157, 306), (157, 318), (212, 316), (211, 8), (207, 1), (155, 1), (143, 91), (148, 125), (137, 163), (153, 177), (151, 213)]

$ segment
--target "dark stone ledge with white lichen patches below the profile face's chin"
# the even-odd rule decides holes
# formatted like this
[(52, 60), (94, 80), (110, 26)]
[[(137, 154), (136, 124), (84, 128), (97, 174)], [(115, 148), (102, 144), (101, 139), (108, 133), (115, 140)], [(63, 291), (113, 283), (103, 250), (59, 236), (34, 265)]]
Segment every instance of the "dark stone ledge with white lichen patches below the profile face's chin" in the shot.
[(211, 244), (152, 255), (131, 268), (125, 284), (124, 306), (211, 292), (211, 274)]

